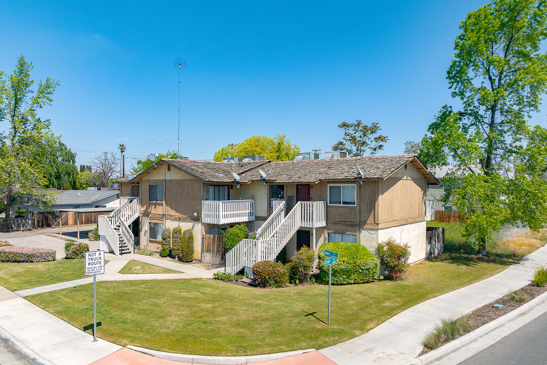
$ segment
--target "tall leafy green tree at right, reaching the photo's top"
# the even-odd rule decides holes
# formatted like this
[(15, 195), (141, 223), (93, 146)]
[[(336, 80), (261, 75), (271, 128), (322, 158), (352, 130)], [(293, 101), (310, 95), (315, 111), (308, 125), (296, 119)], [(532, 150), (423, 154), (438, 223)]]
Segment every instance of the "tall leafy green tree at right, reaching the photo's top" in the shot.
[(443, 179), (445, 199), (485, 254), (502, 225), (539, 229), (547, 221), (547, 131), (527, 121), (547, 87), (547, 11), (539, 0), (498, 0), (471, 11), (460, 28), (447, 79), (462, 110), (441, 108), (420, 156), (428, 167), (455, 165)]

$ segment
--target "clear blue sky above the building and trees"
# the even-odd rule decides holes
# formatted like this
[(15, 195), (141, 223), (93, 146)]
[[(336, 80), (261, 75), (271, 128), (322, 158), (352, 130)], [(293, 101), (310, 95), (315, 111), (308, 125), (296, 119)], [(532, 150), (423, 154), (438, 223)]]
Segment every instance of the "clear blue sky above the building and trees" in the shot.
[(486, 1), (166, 3), (0, 0), (0, 70), (22, 54), (34, 79), (60, 81), (40, 116), (77, 164), (119, 143), (129, 157), (177, 148), (176, 57), (188, 63), (181, 153), (192, 159), (257, 134), (324, 152), (355, 119), (379, 122), (383, 154), (401, 153), (457, 105), (453, 41)]

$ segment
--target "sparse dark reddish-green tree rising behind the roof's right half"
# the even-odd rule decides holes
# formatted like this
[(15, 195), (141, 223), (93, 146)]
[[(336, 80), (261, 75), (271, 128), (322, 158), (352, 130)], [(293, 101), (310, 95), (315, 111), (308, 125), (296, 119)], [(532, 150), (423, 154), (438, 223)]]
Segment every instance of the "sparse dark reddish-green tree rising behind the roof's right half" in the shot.
[(362, 120), (357, 119), (355, 123), (340, 123), (338, 128), (344, 131), (342, 141), (336, 142), (333, 146), (335, 151), (346, 151), (349, 157), (362, 157), (366, 153), (374, 156), (379, 150), (385, 147), (387, 136), (378, 134), (380, 126), (377, 122), (370, 125), (363, 124)]

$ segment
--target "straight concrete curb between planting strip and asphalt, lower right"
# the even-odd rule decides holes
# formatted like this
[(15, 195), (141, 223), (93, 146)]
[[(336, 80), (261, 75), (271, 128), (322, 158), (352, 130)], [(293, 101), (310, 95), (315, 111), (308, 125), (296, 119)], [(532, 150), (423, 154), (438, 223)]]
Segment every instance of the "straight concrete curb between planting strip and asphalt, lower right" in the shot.
[(439, 347), (437, 350), (429, 351), (427, 354), (416, 357), (414, 360), (405, 362), (402, 365), (427, 365), (433, 361), (439, 360), (441, 357), (449, 354), (452, 351), (458, 350), (461, 347), (464, 347), (471, 343), (472, 341), (478, 339), (482, 335), (493, 331), (494, 329), (505, 325), (505, 323), (513, 320), (513, 318), (520, 316), (521, 314), (535, 308), (537, 305), (542, 304), (547, 300), (547, 292), (537, 296), (536, 298), (530, 300), (528, 303), (521, 305), (519, 308), (510, 311), (508, 314), (503, 315), (492, 322), (486, 323), (486, 325), (481, 326), (474, 331), (471, 331), (467, 334), (464, 334), (462, 337), (459, 337), (449, 343)]

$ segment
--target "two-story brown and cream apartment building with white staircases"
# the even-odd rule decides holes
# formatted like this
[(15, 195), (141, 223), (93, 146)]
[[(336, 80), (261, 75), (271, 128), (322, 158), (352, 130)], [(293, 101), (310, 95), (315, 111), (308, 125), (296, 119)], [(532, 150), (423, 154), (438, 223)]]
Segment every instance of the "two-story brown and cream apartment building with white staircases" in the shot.
[[(358, 242), (375, 252), (379, 242), (393, 237), (411, 246), (411, 263), (427, 255), (426, 186), (439, 183), (416, 155), (237, 163), (162, 159), (119, 182), (122, 196), (139, 197), (140, 245), (148, 250), (160, 250), (164, 228), (180, 226), (193, 229), (194, 258), (200, 259), (203, 234), (245, 223), (259, 239), (246, 244), (269, 250), (257, 253), (262, 259), (283, 247), (290, 257), (302, 246), (327, 241)], [(272, 237), (276, 247), (265, 248)], [(251, 251), (245, 252), (240, 256)]]

